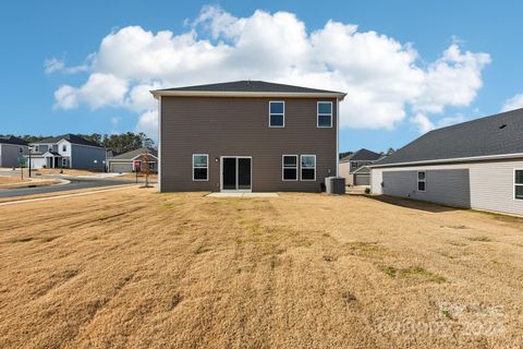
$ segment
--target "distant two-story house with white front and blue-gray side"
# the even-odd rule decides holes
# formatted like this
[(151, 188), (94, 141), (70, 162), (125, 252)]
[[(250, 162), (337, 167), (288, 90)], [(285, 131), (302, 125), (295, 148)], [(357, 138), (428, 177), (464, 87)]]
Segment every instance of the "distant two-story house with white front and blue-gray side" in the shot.
[[(98, 143), (64, 134), (31, 144), (32, 168), (74, 168), (104, 170), (106, 149)], [(28, 159), (29, 156), (25, 155)], [(28, 160), (27, 160), (28, 164)]]

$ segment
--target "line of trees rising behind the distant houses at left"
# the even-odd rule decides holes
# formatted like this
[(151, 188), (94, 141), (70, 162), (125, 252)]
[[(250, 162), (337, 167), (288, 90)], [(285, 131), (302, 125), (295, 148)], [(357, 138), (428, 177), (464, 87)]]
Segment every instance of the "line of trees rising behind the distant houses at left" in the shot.
[[(76, 135), (84, 137), (88, 141), (95, 142), (98, 145), (104, 146), (108, 151), (112, 151), (113, 153), (117, 153), (117, 154), (135, 151), (142, 147), (156, 148), (155, 142), (143, 132), (139, 132), (139, 133), (126, 132), (121, 134), (104, 134), (104, 135), (100, 133), (92, 133), (92, 134), (76, 134)], [(35, 143), (52, 136), (25, 134), (25, 135), (17, 135), (17, 137), (28, 143)]]

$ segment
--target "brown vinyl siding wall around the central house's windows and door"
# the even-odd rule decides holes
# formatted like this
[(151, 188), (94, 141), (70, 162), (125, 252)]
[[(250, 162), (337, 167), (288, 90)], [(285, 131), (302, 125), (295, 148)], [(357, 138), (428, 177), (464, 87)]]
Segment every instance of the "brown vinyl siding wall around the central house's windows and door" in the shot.
[[(285, 103), (285, 127), (269, 128), (269, 101)], [(332, 128), (317, 128), (317, 101), (332, 101)], [(320, 190), (336, 176), (333, 98), (161, 97), (161, 191), (220, 191), (220, 156), (252, 156), (252, 190)], [(209, 155), (209, 180), (192, 180), (192, 155)], [(316, 155), (316, 181), (282, 181), (282, 155)], [(300, 167), (299, 167), (300, 170)]]

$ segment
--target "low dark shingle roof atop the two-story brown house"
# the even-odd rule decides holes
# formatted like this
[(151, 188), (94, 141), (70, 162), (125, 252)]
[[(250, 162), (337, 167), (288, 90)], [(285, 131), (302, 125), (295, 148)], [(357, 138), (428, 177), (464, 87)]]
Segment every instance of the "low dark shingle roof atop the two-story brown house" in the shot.
[(265, 81), (242, 80), (230, 83), (208, 84), (185, 86), (175, 88), (157, 89), (156, 92), (166, 91), (191, 91), (191, 92), (267, 92), (267, 93), (329, 93), (342, 94), (336, 91), (317, 89), (309, 87), (292, 86), (284, 84), (268, 83)]

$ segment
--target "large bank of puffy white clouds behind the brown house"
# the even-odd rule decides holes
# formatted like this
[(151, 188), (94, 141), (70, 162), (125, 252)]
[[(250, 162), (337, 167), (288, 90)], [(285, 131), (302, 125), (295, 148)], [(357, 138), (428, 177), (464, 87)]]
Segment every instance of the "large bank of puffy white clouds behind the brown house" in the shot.
[(142, 115), (143, 128), (156, 108), (148, 89), (265, 80), (346, 92), (342, 127), (393, 129), (411, 110), (431, 123), (448, 106), (469, 106), (490, 57), (453, 43), (435, 62), (419, 61), (412, 44), (356, 25), (329, 21), (309, 33), (289, 12), (257, 10), (240, 19), (204, 7), (185, 33), (155, 34), (141, 26), (110, 33), (92, 58), (87, 82), (60, 87), (56, 100), (65, 109), (127, 108)]

